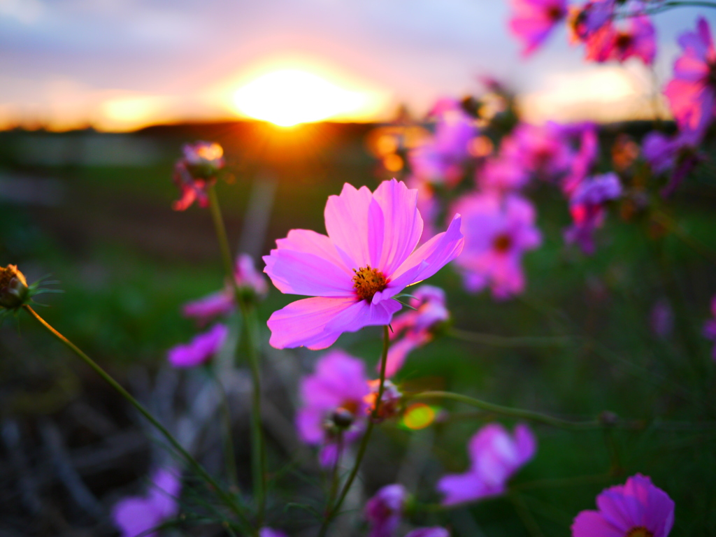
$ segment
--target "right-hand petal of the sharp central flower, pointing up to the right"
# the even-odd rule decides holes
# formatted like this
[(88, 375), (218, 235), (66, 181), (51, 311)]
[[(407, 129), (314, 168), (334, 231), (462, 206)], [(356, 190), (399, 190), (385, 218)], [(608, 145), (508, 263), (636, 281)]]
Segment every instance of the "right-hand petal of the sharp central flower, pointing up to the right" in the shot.
[(393, 279), (398, 279), (402, 274), (413, 269), (418, 264), (425, 261), (425, 266), (417, 274), (412, 276), (411, 284), (430, 278), (443, 266), (453, 261), (463, 251), (465, 246), (465, 237), (460, 232), (462, 219), (460, 215), (455, 215), (453, 221), (448, 226), (448, 231), (438, 233), (436, 236), (427, 241), (425, 244), (417, 248), (410, 254), (404, 263), (397, 269)]

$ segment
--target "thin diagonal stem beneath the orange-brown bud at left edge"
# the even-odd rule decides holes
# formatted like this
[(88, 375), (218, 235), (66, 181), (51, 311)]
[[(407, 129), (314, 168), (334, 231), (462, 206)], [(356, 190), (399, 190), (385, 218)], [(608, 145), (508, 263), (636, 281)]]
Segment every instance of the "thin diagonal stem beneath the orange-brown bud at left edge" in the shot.
[[(165, 437), (168, 442), (172, 445), (172, 447), (177, 450), (177, 452), (182, 456), (182, 458), (190, 465), (190, 467), (198, 474), (200, 477), (207, 483), (208, 487), (216, 492), (218, 497), (221, 499), (223, 503), (226, 504), (228, 508), (233, 511), (234, 514), (236, 514), (239, 521), (244, 523), (246, 526), (248, 526), (248, 521), (246, 520), (246, 517), (243, 516), (243, 513), (241, 512), (241, 509), (236, 505), (236, 501), (234, 498), (232, 498), (231, 494), (227, 493), (226, 490), (223, 490), (221, 488), (221, 485), (219, 485), (214, 478), (209, 475), (209, 473), (203, 468), (202, 465), (193, 458), (193, 456), (185, 450), (182, 445), (176, 440), (175, 437), (167, 430), (164, 425), (162, 425), (158, 420), (139, 402), (137, 401), (132, 395), (130, 395), (130, 392), (127, 392), (119, 382), (117, 382), (115, 379), (113, 379), (109, 373), (105, 371), (105, 369), (102, 369), (95, 360), (87, 356), (87, 354), (84, 354), (77, 345), (69, 341), (66, 337), (64, 337), (62, 334), (57, 332), (47, 321), (42, 319), (41, 316), (37, 314), (37, 311), (34, 311), (30, 306), (25, 305), (23, 306), (25, 311), (27, 311), (30, 316), (32, 316), (39, 324), (41, 324), (47, 331), (52, 334), (54, 337), (59, 339), (60, 342), (62, 342), (66, 347), (68, 347), (74, 354), (77, 354), (78, 357), (80, 357), (85, 364), (87, 364), (89, 367), (95, 370), (97, 374), (102, 377), (102, 379), (105, 379), (105, 381), (112, 386), (119, 394), (124, 397), (127, 401), (130, 402), (130, 404), (135, 407), (142, 416), (144, 416), (162, 435)], [(256, 532), (255, 532), (256, 533)], [(256, 533), (258, 534), (258, 533)]]

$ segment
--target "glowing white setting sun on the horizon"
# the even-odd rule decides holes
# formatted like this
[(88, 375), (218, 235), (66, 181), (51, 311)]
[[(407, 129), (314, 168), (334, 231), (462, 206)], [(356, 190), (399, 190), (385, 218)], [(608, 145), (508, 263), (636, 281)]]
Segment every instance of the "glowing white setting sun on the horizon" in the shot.
[(281, 69), (244, 85), (233, 96), (243, 115), (281, 127), (332, 119), (358, 112), (367, 97), (338, 87), (316, 74)]

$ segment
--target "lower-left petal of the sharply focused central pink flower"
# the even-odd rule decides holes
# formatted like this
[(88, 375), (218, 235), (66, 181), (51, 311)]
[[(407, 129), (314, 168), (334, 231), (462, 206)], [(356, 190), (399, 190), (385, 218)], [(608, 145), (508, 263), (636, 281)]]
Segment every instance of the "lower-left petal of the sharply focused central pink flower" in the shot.
[(314, 296), (291, 302), (269, 318), (269, 343), (276, 349), (301, 347), (325, 349), (330, 347), (340, 332), (326, 331), (326, 324), (342, 311), (357, 304), (355, 297), (329, 298)]

